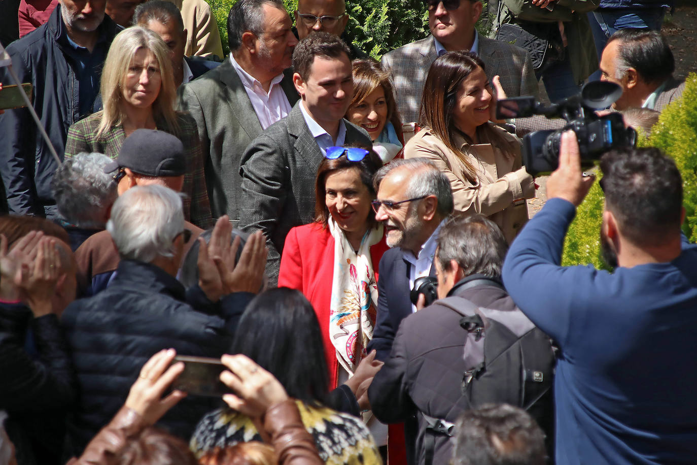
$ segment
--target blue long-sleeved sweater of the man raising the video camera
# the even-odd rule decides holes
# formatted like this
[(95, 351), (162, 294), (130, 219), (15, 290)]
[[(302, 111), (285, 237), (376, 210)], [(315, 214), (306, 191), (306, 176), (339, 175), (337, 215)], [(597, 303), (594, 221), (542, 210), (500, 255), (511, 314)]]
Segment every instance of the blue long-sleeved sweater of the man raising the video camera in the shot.
[(697, 247), (670, 263), (561, 267), (574, 206), (550, 199), (510, 247), (503, 281), (560, 345), (556, 463), (697, 457)]

